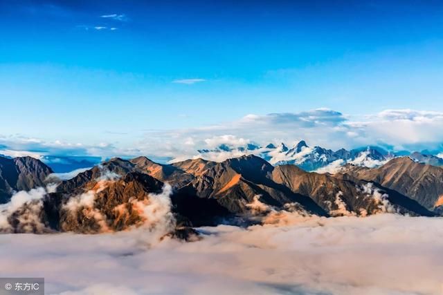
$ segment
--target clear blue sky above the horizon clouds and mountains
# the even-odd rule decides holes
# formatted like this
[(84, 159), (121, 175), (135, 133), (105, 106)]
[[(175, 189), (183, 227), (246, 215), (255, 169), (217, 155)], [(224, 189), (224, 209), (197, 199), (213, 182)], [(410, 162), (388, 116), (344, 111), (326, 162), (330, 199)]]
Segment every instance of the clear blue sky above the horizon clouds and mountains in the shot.
[[(248, 114), (328, 108), (355, 126), (390, 109), (443, 111), (442, 12), (407, 0), (3, 0), (0, 144), (156, 153), (145, 142), (224, 135), (200, 136), (207, 126), (244, 137), (255, 127), (235, 122)], [(266, 132), (251, 140), (305, 137)]]

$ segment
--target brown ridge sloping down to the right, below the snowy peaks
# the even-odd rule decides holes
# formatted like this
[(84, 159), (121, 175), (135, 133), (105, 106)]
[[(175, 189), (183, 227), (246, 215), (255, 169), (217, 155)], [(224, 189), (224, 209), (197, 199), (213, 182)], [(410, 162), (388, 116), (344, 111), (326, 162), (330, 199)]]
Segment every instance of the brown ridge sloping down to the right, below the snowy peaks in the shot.
[(434, 215), (415, 200), (377, 182), (329, 173), (309, 173), (293, 165), (275, 167), (272, 178), (294, 193), (309, 196), (331, 216), (366, 216), (379, 212)]

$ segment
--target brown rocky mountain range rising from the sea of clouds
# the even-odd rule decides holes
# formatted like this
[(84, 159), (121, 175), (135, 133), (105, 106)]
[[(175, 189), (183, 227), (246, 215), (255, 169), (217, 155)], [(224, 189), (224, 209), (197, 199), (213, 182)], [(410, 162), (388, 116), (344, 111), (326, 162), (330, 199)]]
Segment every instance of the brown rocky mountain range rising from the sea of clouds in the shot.
[[(271, 150), (269, 153), (280, 153), (284, 152), (284, 145), (266, 149)], [(354, 160), (361, 155), (372, 160), (389, 159), (388, 154), (375, 149), (329, 153), (320, 148), (309, 149), (303, 142), (286, 152), (289, 151), (289, 157), (278, 163), (296, 161), (300, 158), (295, 159), (293, 155), (300, 153), (307, 155), (305, 159), (311, 163), (326, 155), (343, 155)], [(274, 166), (255, 155), (223, 162), (199, 158), (174, 164), (159, 164), (145, 157), (114, 158), (61, 181), (39, 160), (0, 158), (3, 203), (8, 202), (14, 191), (58, 183), (57, 189), (44, 192), (41, 200), (30, 200), (13, 207), (13, 211), (11, 206), (3, 204), (0, 213), (8, 213), (8, 231), (13, 232), (118, 231), (136, 227), (145, 220), (144, 206), (154, 201), (152, 193), (162, 193), (165, 182), (173, 187), (168, 198), (177, 220), (174, 234), (179, 235), (190, 231), (190, 225), (217, 225), (233, 218), (248, 220), (257, 213), (253, 209), (257, 202), (276, 210), (318, 216), (367, 216), (381, 212), (436, 216), (443, 213), (442, 168), (409, 157), (390, 157), (388, 162), (375, 168), (351, 162), (331, 174), (308, 172), (293, 164)], [(38, 204), (42, 209), (35, 213)], [(29, 217), (30, 213), (33, 218)]]

